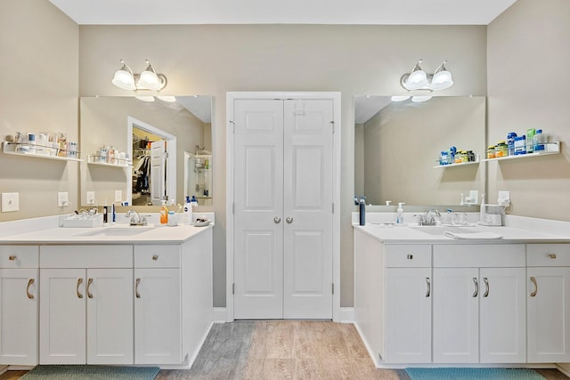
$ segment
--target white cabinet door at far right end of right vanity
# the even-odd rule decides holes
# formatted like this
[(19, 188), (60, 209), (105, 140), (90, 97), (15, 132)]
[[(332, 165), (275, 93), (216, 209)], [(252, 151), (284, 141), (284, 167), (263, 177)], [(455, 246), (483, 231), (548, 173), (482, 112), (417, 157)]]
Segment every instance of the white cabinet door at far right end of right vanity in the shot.
[(570, 268), (529, 267), (526, 308), (529, 363), (570, 362)]

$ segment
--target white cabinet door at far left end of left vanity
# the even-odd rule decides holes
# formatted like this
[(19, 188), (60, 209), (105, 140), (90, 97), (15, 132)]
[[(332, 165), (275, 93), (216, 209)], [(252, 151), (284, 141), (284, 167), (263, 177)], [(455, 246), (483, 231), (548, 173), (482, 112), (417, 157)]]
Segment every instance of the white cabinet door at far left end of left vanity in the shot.
[(0, 364), (37, 365), (37, 269), (0, 270)]

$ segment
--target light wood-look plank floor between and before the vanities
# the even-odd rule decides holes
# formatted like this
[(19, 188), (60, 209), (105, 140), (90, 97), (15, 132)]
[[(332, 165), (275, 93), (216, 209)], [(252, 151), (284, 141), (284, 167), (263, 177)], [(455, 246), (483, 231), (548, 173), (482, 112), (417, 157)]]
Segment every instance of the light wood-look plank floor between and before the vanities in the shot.
[[(548, 380), (567, 379), (538, 369)], [(26, 372), (8, 371), (0, 380)], [(236, 321), (216, 324), (191, 369), (161, 370), (171, 379), (410, 380), (405, 371), (377, 369), (353, 325), (330, 321)]]

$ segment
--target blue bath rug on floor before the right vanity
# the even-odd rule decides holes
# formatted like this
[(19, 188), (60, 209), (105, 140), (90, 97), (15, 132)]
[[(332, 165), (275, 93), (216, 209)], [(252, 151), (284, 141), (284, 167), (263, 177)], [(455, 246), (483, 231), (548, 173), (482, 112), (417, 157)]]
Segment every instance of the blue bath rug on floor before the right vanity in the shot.
[(525, 368), (406, 368), (411, 380), (544, 380)]

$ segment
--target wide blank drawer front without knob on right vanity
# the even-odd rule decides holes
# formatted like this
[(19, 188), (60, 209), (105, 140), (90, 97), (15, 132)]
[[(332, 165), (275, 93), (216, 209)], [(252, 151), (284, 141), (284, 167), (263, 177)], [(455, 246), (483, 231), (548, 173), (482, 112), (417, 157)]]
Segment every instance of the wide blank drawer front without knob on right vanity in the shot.
[(434, 267), (525, 267), (524, 244), (441, 244), (434, 246)]

